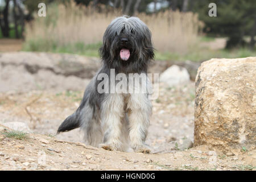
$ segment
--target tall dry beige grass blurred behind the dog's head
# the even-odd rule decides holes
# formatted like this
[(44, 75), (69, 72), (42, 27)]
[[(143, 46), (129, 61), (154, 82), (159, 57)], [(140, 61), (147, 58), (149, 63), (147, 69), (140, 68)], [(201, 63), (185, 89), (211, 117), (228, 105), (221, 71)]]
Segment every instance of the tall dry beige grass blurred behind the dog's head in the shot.
[[(120, 11), (102, 8), (96, 13), (91, 7), (50, 5), (47, 16), (38, 17), (26, 24), (26, 49), (52, 51), (52, 49), (75, 45), (86, 49), (90, 44), (100, 44), (108, 24)], [(150, 28), (155, 48), (161, 52), (186, 53), (197, 42), (199, 22), (197, 15), (166, 11), (157, 15), (138, 14)], [(76, 50), (74, 50), (76, 51)]]

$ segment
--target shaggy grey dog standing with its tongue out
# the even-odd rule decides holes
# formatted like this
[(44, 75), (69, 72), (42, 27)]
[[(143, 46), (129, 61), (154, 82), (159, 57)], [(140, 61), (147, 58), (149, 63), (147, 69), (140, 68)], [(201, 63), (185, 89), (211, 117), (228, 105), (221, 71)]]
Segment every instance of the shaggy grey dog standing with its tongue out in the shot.
[[(151, 84), (146, 76), (148, 63), (154, 59), (151, 32), (139, 18), (116, 18), (106, 29), (99, 52), (102, 67), (87, 86), (79, 108), (57, 133), (81, 127), (91, 146), (149, 153), (144, 142), (151, 115)], [(112, 77), (112, 71), (119, 79), (109, 82), (104, 76)], [(142, 79), (134, 81), (131, 73)], [(126, 86), (117, 88), (118, 84)], [(141, 88), (146, 92), (136, 92)]]

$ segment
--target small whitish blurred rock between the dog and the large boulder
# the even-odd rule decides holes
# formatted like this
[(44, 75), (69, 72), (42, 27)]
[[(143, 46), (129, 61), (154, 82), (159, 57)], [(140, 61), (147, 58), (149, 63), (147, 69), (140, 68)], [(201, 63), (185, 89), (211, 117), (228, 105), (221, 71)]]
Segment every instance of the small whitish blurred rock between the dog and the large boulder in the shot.
[(160, 75), (159, 81), (166, 83), (170, 87), (184, 85), (189, 82), (189, 74), (187, 69), (172, 65)]

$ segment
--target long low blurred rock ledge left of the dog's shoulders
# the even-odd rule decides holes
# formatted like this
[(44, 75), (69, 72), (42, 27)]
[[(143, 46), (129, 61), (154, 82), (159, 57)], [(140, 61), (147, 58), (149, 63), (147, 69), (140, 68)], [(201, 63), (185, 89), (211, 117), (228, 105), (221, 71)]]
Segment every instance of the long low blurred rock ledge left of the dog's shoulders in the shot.
[(0, 92), (24, 93), (38, 89), (84, 89), (100, 68), (101, 60), (66, 53), (6, 52), (0, 53), (0, 65), (0, 85), (5, 85)]

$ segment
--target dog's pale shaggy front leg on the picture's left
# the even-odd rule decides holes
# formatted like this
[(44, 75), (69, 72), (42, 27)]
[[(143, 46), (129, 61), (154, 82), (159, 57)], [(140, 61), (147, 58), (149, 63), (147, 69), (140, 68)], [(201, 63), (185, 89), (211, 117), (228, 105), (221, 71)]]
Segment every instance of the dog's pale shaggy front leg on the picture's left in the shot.
[(101, 121), (104, 128), (104, 143), (100, 147), (105, 150), (122, 150), (121, 119), (124, 116), (122, 94), (109, 94), (102, 104)]

